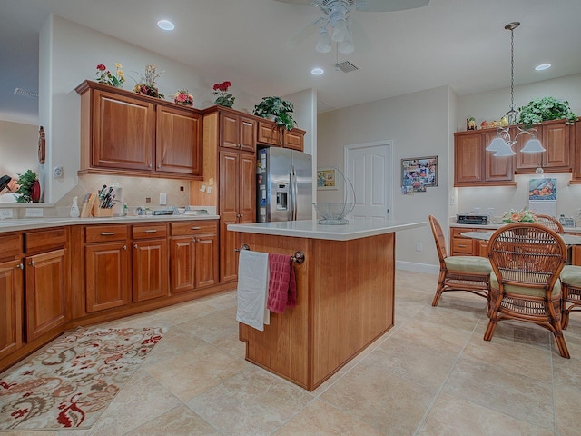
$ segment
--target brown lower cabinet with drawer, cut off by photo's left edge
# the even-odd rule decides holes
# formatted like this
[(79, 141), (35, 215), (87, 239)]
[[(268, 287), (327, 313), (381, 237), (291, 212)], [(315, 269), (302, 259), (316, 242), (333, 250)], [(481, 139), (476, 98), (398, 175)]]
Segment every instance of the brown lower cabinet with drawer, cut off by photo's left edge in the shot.
[(23, 344), (23, 269), (22, 236), (0, 236), (0, 359)]

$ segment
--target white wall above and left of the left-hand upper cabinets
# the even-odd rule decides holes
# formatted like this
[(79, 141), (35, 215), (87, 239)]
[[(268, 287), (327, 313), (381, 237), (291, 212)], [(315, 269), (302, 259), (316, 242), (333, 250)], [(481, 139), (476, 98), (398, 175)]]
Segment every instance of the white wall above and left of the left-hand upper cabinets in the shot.
[[(44, 201), (55, 203), (77, 184), (80, 162), (80, 96), (74, 88), (85, 79), (94, 80), (97, 64), (113, 69), (123, 64), (126, 82), (123, 89), (133, 89), (147, 64), (157, 65), (163, 72), (159, 90), (166, 98), (187, 88), (194, 95), (194, 107), (213, 104), (212, 86), (227, 77), (204, 77), (189, 65), (180, 64), (159, 54), (130, 45), (109, 35), (50, 15), (41, 30), (39, 119), (45, 126), (47, 139), (46, 171), (55, 165), (64, 167), (64, 178), (46, 178)], [(261, 96), (245, 93), (231, 86), (236, 97), (234, 109), (251, 113)]]

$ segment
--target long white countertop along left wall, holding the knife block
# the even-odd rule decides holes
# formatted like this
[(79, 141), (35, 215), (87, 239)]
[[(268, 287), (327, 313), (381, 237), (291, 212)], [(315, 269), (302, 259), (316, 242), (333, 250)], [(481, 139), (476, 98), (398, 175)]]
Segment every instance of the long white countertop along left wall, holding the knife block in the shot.
[(202, 221), (217, 220), (219, 215), (139, 215), (139, 216), (113, 216), (108, 218), (22, 218), (0, 220), (0, 233), (14, 232), (17, 230), (43, 229), (58, 225), (76, 224), (124, 224), (124, 223), (160, 223), (168, 221)]

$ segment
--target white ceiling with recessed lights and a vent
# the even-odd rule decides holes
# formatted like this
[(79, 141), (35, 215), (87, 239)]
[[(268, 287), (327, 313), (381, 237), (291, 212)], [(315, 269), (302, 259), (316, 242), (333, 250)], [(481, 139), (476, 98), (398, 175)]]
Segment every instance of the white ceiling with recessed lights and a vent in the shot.
[[(389, 1), (389, 0), (385, 0)], [(0, 0), (0, 119), (37, 117), (38, 31), (49, 13), (146, 47), (252, 94), (315, 88), (319, 111), (450, 85), (459, 96), (581, 73), (581, 0), (431, 0), (418, 9), (354, 12), (355, 52), (314, 50), (313, 6), (274, 0)], [(176, 29), (164, 33), (161, 18)], [(334, 64), (349, 60), (351, 73)], [(536, 72), (537, 64), (553, 67)], [(325, 74), (312, 76), (320, 66)], [(257, 102), (258, 103), (258, 102)], [(15, 120), (11, 120), (15, 121)], [(34, 122), (33, 122), (34, 123)]]

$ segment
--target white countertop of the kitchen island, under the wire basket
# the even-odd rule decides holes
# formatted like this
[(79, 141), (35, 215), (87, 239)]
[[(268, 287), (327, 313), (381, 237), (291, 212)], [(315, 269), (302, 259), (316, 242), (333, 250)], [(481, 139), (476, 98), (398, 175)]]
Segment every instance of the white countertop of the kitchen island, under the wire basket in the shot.
[(277, 223), (228, 224), (228, 230), (241, 233), (261, 233), (296, 238), (350, 241), (423, 227), (426, 222), (387, 221), (385, 223), (320, 224), (319, 220), (285, 221)]

